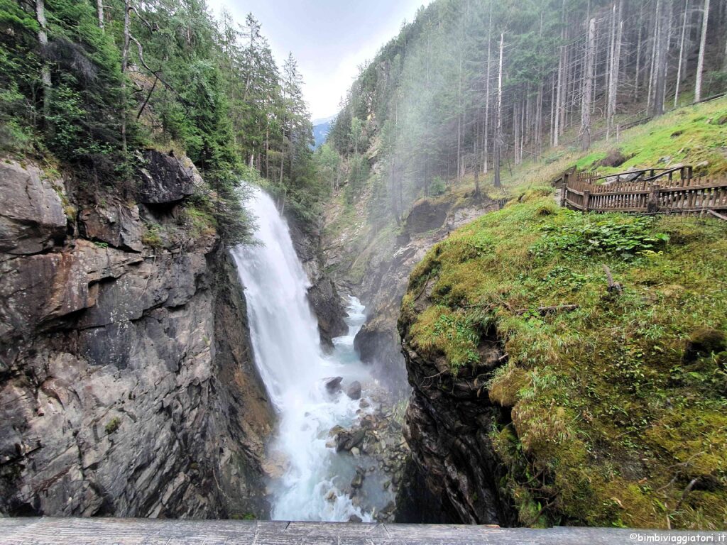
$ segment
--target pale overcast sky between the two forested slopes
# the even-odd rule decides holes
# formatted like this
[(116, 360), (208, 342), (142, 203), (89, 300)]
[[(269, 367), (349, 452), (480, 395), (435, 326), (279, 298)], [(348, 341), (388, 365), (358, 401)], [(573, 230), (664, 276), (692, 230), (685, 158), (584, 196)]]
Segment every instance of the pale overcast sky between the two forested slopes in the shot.
[(298, 60), (313, 119), (332, 116), (358, 73), (404, 20), (411, 22), (429, 0), (208, 0), (244, 23), (249, 12), (282, 67), (288, 52)]

